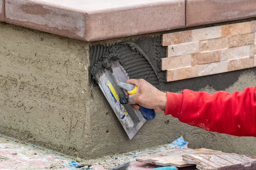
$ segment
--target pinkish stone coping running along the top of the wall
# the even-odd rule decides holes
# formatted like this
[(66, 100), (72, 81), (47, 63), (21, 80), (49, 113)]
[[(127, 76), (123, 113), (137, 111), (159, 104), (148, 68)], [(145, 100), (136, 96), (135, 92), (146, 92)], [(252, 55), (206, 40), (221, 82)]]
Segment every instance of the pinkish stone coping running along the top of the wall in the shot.
[(0, 0), (0, 21), (84, 41), (251, 17), (256, 0)]

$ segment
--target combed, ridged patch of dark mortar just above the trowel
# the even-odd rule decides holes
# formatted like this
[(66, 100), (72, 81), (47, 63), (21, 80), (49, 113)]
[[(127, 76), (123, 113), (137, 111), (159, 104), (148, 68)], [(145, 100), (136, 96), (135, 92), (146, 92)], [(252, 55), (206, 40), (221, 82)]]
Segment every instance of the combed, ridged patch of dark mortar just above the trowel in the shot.
[(101, 68), (110, 68), (111, 60), (119, 60), (131, 79), (145, 79), (159, 84), (157, 71), (144, 51), (134, 42), (122, 42), (112, 46), (97, 45), (90, 48), (89, 74), (95, 75)]

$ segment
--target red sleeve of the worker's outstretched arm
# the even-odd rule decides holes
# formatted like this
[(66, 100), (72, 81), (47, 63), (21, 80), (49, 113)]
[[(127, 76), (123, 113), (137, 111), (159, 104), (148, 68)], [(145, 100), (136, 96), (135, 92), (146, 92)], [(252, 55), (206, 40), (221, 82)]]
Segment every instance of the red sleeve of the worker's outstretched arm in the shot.
[(215, 94), (184, 90), (167, 93), (165, 115), (205, 130), (234, 136), (256, 137), (256, 87), (243, 92)]

